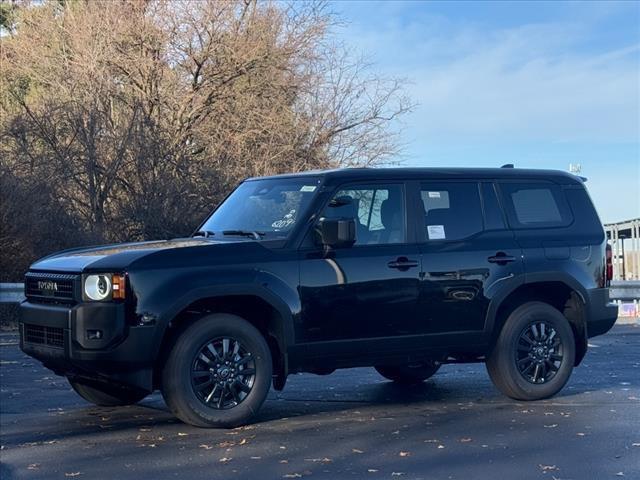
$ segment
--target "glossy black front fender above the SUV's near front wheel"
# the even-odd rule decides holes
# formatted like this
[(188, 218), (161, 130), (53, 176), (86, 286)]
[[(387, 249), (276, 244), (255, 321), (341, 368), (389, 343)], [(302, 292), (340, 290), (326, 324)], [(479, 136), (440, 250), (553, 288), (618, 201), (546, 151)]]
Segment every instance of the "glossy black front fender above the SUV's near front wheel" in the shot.
[(210, 297), (261, 298), (280, 314), (285, 345), (295, 343), (294, 323), (301, 311), (296, 251), (270, 249), (257, 242), (201, 248), (197, 256), (183, 250), (166, 258), (158, 252), (131, 269), (130, 283), (138, 299), (135, 316), (157, 324), (155, 356), (169, 322), (192, 303)]

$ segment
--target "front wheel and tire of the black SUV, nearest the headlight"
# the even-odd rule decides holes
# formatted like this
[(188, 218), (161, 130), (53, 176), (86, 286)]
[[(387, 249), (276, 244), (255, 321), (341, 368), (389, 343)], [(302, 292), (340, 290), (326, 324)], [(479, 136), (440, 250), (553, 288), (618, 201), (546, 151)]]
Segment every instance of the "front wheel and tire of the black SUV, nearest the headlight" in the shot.
[(177, 338), (162, 371), (162, 396), (185, 423), (236, 427), (260, 409), (272, 369), (269, 346), (253, 325), (235, 315), (207, 315)]

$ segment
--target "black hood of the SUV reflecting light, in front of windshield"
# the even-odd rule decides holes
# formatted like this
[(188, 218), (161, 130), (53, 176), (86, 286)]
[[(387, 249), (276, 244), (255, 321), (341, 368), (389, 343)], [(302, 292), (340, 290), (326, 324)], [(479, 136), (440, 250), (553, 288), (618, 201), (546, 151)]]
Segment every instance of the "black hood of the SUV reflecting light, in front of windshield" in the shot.
[(206, 247), (213, 243), (204, 238), (179, 238), (76, 248), (44, 257), (31, 265), (31, 269), (69, 272), (82, 272), (87, 269), (117, 271), (126, 269), (141, 257), (161, 250)]

